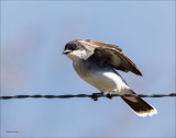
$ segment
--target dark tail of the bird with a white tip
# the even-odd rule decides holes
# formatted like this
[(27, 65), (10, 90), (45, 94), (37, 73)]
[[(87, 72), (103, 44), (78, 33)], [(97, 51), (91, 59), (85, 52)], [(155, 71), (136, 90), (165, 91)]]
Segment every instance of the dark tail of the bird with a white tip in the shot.
[[(130, 90), (128, 94), (135, 94), (135, 93), (132, 90)], [(147, 115), (152, 116), (154, 114), (157, 114), (157, 111), (155, 110), (155, 107), (146, 103), (141, 97), (122, 96), (122, 99), (130, 106), (130, 108), (139, 116), (145, 117)]]

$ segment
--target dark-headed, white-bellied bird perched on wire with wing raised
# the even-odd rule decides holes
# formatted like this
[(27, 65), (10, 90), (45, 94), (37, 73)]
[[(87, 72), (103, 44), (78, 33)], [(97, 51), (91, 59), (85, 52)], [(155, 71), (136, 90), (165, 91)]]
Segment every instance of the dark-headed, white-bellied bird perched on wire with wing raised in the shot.
[[(134, 62), (117, 45), (94, 41), (74, 39), (65, 45), (64, 55), (73, 60), (78, 76), (97, 88), (101, 94), (135, 94), (117, 70), (142, 76)], [(136, 96), (121, 96), (139, 116), (157, 114), (154, 106)]]

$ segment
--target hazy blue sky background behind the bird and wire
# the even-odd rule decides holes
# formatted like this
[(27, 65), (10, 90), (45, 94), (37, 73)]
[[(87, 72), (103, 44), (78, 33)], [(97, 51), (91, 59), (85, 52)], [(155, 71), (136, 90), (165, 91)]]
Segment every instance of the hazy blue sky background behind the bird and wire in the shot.
[[(98, 92), (62, 55), (76, 38), (119, 45), (143, 73), (119, 71), (136, 93), (175, 92), (174, 1), (2, 1), (1, 95)], [(145, 100), (157, 115), (120, 97), (1, 101), (1, 137), (175, 137), (175, 97)]]

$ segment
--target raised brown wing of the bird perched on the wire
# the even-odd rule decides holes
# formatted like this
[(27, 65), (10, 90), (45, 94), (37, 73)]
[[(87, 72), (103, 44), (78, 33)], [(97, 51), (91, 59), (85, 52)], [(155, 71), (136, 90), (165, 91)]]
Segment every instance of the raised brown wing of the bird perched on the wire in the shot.
[(128, 58), (118, 46), (91, 39), (81, 39), (81, 42), (82, 41), (87, 43), (87, 45), (92, 45), (94, 53), (89, 56), (101, 65), (103, 64), (117, 70), (124, 72), (131, 71), (142, 76), (134, 62)]

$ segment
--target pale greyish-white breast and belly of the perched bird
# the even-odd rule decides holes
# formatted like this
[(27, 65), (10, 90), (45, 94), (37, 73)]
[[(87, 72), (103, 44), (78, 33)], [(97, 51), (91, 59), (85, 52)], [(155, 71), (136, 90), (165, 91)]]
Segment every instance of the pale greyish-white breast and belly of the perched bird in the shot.
[(112, 90), (122, 91), (129, 89), (123, 82), (122, 78), (112, 69), (92, 70), (88, 69), (85, 65), (74, 64), (75, 70), (86, 82), (90, 83), (99, 91), (111, 92)]

